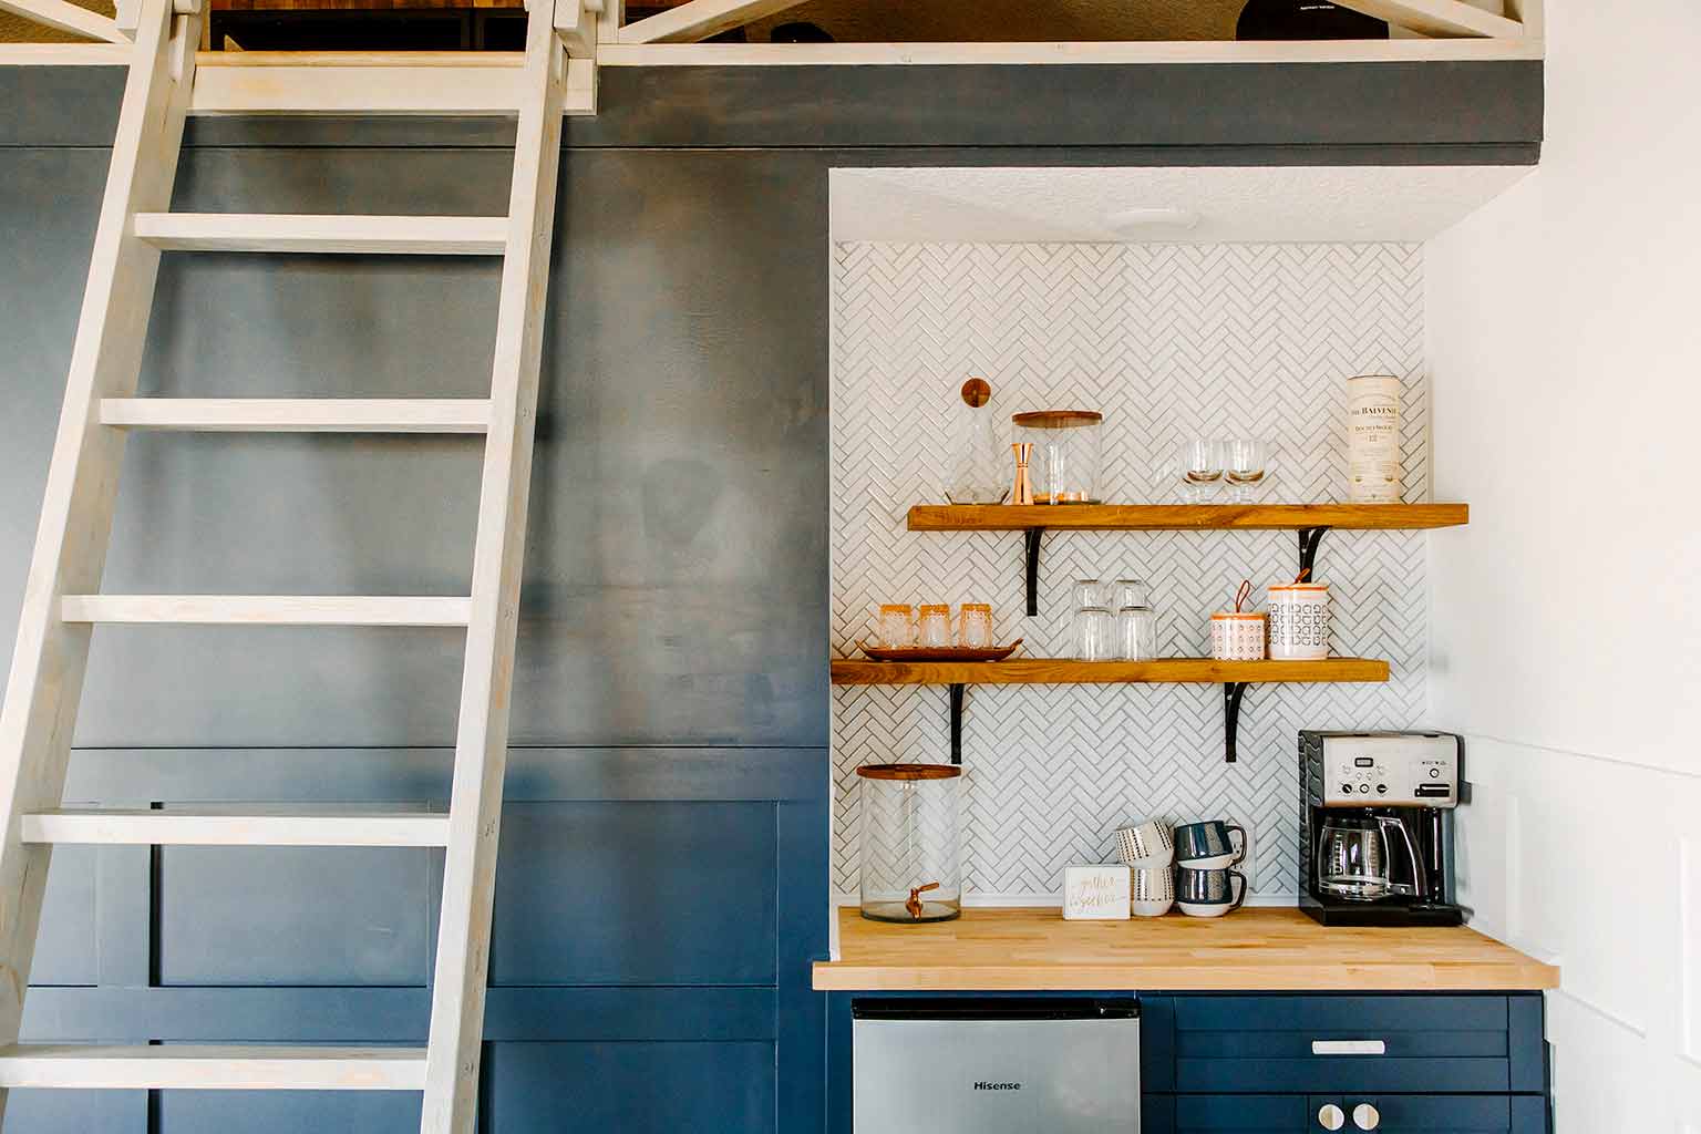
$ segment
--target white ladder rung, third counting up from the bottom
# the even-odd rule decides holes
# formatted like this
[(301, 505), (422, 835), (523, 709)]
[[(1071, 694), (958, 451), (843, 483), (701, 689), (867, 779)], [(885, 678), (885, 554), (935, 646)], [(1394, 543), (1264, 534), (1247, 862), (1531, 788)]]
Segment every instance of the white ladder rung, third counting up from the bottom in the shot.
[(165, 626), (466, 626), (471, 598), (371, 595), (65, 595), (65, 622)]

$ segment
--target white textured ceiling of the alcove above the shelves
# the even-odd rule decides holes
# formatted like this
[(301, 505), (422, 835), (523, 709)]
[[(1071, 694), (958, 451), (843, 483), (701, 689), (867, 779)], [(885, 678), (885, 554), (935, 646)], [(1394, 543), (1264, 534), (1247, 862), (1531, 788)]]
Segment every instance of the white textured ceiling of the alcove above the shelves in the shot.
[[(885, 243), (1422, 241), (1533, 167), (833, 170), (833, 240)], [(1157, 209), (1180, 224), (1118, 226)]]

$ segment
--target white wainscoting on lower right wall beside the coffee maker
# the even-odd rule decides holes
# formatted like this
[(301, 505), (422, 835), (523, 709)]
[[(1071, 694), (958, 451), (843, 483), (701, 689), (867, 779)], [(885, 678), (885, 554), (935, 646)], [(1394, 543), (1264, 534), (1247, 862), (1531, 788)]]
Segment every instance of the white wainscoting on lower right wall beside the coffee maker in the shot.
[(1459, 899), (1558, 964), (1548, 996), (1562, 1134), (1701, 1119), (1701, 777), (1466, 736)]

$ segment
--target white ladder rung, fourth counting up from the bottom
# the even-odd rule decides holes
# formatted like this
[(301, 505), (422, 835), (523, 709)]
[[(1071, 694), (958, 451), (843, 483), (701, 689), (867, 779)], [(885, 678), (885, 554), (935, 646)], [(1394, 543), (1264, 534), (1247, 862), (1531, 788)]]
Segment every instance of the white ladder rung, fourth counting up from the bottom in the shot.
[(485, 434), (485, 398), (105, 398), (100, 423), (199, 434)]

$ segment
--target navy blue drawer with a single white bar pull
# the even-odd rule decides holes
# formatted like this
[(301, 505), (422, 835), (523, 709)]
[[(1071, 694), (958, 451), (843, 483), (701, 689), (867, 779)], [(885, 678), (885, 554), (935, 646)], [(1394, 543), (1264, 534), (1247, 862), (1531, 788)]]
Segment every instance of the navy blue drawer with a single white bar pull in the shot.
[(1529, 1090), (1509, 1020), (1505, 996), (1177, 996), (1175, 1090)]

